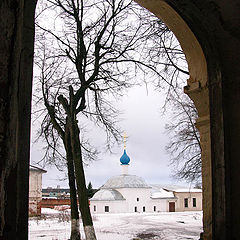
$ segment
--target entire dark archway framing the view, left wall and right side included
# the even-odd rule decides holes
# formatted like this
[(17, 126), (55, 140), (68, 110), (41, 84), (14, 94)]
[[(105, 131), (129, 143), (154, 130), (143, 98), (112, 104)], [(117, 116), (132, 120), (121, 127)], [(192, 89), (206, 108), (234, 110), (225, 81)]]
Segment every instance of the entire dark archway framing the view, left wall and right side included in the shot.
[[(199, 112), (201, 142), (207, 143), (203, 163), (209, 164), (204, 172), (208, 176), (204, 186), (210, 187), (204, 190), (205, 213), (209, 210), (204, 239), (238, 239), (239, 1), (137, 1), (173, 30), (189, 64), (191, 77), (185, 91)], [(0, 4), (0, 238), (4, 239), (27, 239), (35, 5), (36, 0), (3, 0)]]

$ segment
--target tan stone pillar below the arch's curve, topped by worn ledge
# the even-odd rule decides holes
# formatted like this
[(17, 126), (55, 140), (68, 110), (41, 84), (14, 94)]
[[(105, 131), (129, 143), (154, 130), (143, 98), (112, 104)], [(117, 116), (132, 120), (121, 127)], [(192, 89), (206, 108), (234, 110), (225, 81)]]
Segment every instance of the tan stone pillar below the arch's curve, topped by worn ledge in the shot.
[(196, 127), (200, 133), (201, 143), (203, 239), (212, 240), (212, 166), (208, 88), (202, 87), (200, 82), (190, 78), (184, 92), (193, 100), (198, 110)]

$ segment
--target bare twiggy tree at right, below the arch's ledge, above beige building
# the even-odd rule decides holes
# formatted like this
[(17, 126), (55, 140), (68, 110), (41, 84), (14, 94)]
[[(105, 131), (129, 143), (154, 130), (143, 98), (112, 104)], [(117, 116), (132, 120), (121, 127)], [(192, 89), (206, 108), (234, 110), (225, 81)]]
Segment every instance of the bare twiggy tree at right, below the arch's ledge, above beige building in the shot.
[(188, 96), (172, 97), (172, 119), (165, 126), (170, 137), (166, 146), (171, 155), (174, 176), (188, 182), (201, 183), (201, 145), (195, 126), (197, 110)]

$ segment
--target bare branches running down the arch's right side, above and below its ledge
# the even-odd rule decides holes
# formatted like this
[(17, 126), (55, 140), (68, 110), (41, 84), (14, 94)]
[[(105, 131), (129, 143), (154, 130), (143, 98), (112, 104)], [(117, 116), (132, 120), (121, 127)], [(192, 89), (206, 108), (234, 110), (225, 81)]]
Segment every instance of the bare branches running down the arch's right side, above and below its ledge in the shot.
[[(174, 34), (154, 16), (145, 19), (149, 31), (149, 46), (145, 53), (151, 64), (158, 66), (159, 78), (153, 83), (157, 91), (166, 93), (163, 111), (171, 112), (171, 122), (166, 124), (170, 142), (166, 146), (171, 156), (173, 176), (201, 184), (201, 146), (195, 126), (198, 116), (194, 103), (183, 93), (186, 77), (189, 77), (185, 55)], [(157, 65), (157, 63), (163, 63)], [(157, 81), (156, 81), (157, 80)]]

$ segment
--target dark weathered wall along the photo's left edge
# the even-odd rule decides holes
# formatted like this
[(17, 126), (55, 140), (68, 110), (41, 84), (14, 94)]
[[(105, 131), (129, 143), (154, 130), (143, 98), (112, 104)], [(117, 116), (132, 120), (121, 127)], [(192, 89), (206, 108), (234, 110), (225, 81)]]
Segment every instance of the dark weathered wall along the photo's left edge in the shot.
[(0, 1), (0, 238), (27, 239), (35, 0)]

